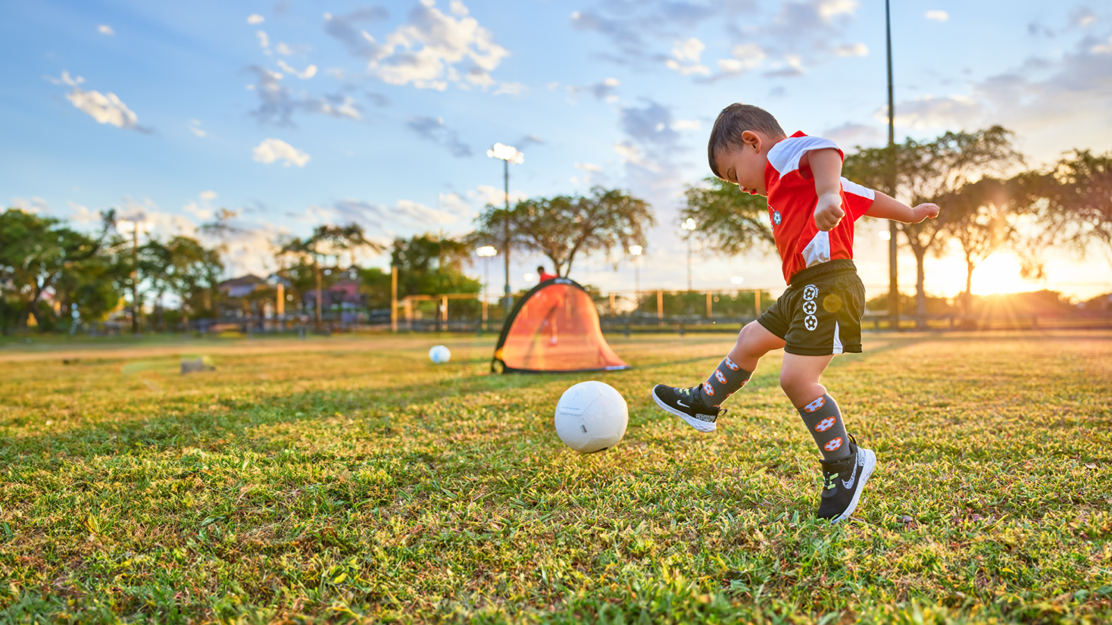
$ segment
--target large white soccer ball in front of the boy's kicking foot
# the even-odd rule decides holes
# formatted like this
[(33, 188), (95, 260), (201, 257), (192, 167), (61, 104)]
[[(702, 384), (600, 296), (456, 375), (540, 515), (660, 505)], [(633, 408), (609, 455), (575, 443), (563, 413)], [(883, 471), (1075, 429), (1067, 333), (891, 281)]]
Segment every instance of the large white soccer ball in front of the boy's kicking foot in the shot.
[(617, 445), (628, 424), (625, 398), (606, 383), (580, 381), (556, 404), (556, 435), (580, 454)]

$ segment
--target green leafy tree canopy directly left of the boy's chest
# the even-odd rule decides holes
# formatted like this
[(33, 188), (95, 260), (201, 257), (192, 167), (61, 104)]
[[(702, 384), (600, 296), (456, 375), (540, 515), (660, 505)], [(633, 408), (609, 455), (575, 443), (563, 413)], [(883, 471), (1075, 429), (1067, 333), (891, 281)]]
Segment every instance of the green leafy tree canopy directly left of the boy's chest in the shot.
[(703, 182), (684, 191), (687, 206), (679, 218), (698, 224), (695, 236), (709, 249), (726, 256), (776, 249), (765, 198), (743, 194), (737, 185), (719, 178), (705, 178)]

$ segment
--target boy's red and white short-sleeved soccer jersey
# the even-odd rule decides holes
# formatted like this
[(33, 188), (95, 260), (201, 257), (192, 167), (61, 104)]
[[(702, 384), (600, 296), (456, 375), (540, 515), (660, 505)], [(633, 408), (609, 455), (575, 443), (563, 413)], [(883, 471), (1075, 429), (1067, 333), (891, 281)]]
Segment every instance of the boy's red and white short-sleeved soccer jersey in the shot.
[(810, 150), (833, 148), (845, 159), (834, 141), (796, 132), (768, 150), (765, 189), (768, 191), (768, 219), (776, 239), (776, 250), (784, 262), (784, 280), (807, 267), (838, 258), (853, 258), (853, 225), (876, 197), (872, 189), (842, 178), (842, 209), (846, 215), (830, 231), (815, 226), (818, 195), (811, 166), (800, 163)]

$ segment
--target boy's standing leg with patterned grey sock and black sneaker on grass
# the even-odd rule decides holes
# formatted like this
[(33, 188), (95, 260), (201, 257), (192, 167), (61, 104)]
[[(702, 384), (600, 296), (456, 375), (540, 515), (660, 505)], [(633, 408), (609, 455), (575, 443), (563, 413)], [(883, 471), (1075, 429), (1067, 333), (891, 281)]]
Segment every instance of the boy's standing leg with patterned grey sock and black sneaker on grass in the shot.
[(876, 454), (857, 447), (856, 440), (845, 430), (837, 403), (818, 383), (831, 358), (833, 356), (785, 354), (780, 385), (823, 454), (820, 462), (823, 492), (817, 516), (837, 523), (856, 509), (865, 482), (876, 467)]

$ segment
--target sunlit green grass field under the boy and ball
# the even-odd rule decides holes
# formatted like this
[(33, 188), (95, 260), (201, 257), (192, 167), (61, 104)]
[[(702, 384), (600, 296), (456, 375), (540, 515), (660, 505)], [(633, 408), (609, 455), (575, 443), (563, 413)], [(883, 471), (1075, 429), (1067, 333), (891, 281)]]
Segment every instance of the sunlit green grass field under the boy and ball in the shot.
[[(634, 369), (594, 376), (486, 375), (475, 338), (9, 344), (0, 622), (1112, 621), (1112, 334), (836, 358), (878, 456), (837, 526), (780, 355), (714, 435), (652, 404), (731, 343), (614, 337)], [(592, 378), (629, 429), (580, 456), (553, 409)]]

